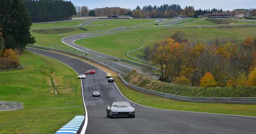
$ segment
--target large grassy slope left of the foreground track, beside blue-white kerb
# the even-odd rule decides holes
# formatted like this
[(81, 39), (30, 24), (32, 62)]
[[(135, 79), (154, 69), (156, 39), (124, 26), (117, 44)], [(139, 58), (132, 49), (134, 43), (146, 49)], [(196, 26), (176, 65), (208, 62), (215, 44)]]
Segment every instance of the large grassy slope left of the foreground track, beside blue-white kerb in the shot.
[[(28, 51), (22, 54), (21, 63), (25, 64), (22, 70), (0, 72), (0, 100), (24, 103), (23, 110), (0, 112), (1, 134), (55, 133), (76, 115), (83, 115), (76, 72), (54, 59)], [(74, 106), (78, 107), (65, 108)]]

